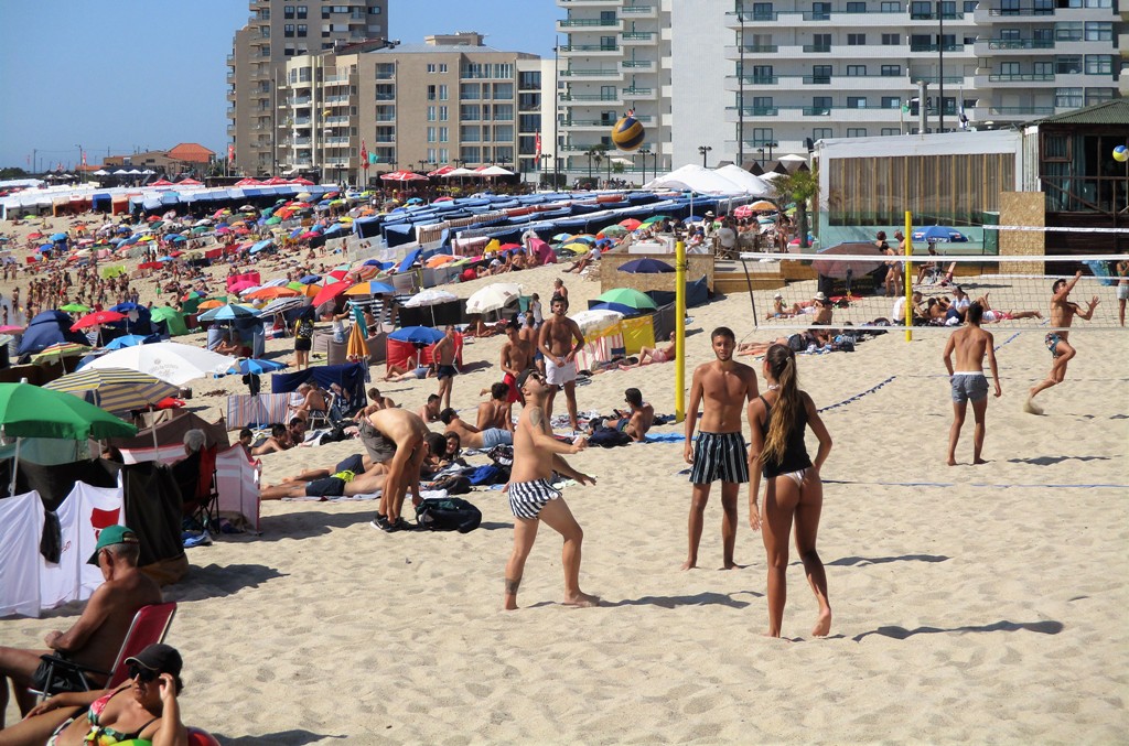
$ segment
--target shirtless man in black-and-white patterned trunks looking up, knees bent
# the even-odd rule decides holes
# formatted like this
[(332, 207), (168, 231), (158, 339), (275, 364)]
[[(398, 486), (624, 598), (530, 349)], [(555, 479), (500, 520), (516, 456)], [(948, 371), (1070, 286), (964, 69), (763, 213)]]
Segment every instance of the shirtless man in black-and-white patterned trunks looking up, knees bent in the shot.
[(514, 468), (507, 488), (509, 509), (514, 514), (514, 552), (506, 563), (505, 607), (517, 608), (517, 589), (522, 585), (525, 561), (544, 521), (564, 539), (561, 564), (564, 569), (564, 605), (596, 606), (599, 599), (580, 590), (580, 544), (584, 532), (563, 495), (549, 481), (553, 472), (580, 484), (595, 484), (596, 480), (569, 466), (560, 454), (577, 454), (588, 442), (578, 439), (572, 444), (553, 438), (549, 418), (541, 409), (552, 386), (536, 370), (527, 369), (518, 376), (518, 386), (526, 405), (517, 421), (514, 435)]

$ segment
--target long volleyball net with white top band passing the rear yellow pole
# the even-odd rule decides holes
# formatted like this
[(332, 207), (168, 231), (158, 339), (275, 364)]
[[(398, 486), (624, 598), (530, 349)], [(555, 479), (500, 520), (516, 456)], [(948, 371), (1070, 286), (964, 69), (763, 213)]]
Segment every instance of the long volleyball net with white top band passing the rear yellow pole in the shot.
[[(1071, 330), (1120, 330), (1119, 262), (1129, 255), (1094, 256), (982, 256), (917, 254), (884, 256), (866, 252), (839, 254), (742, 254), (750, 304), (758, 333), (795, 331), (823, 325), (830, 306), (832, 328), (844, 326), (905, 327), (907, 278), (914, 331), (952, 330), (963, 322), (966, 302), (984, 308), (986, 328), (1060, 328), (1051, 324), (1052, 286), (1073, 281), (1070, 269), (1083, 274), (1069, 300), (1086, 313), (1096, 299), (1088, 323)], [(942, 249), (943, 251), (943, 249)], [(1120, 290), (1129, 295), (1129, 278)], [(960, 289), (961, 292), (957, 291)], [(963, 293), (963, 295), (962, 295)]]

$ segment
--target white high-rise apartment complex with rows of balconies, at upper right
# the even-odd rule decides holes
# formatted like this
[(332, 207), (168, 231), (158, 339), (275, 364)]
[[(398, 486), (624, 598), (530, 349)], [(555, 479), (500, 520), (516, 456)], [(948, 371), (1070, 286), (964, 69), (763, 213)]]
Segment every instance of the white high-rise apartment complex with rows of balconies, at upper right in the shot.
[(610, 144), (607, 120), (632, 105), (660, 169), (913, 133), (922, 85), (930, 132), (1062, 113), (1119, 95), (1126, 30), (1113, 0), (558, 6), (558, 139), (574, 173), (593, 146)]

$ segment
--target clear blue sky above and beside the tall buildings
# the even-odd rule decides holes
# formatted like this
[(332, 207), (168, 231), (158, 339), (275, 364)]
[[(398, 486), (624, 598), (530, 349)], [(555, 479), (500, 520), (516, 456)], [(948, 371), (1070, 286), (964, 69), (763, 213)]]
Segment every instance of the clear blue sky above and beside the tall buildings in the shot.
[[(0, 0), (0, 167), (199, 142), (226, 150), (225, 58), (246, 0)], [(551, 56), (553, 0), (391, 0), (388, 35), (476, 30)]]

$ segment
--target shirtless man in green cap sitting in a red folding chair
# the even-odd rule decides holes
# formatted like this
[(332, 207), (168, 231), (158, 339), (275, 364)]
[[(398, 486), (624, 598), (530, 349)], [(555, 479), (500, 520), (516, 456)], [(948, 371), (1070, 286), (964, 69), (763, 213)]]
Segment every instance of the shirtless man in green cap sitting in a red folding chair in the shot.
[[(125, 526), (110, 526), (98, 534), (97, 547), (89, 563), (97, 564), (105, 579), (89, 600), (78, 621), (67, 632), (49, 632), (43, 639), (47, 650), (21, 650), (0, 647), (0, 728), (8, 706), (8, 683), (20, 712), (27, 714), (35, 706), (35, 696), (28, 687), (42, 688), (46, 683), (47, 665), (40, 656), (56, 655), (82, 666), (108, 670), (114, 665), (117, 651), (125, 640), (130, 623), (138, 609), (149, 604), (161, 603), (160, 588), (149, 576), (138, 569), (140, 542), (138, 535)], [(90, 688), (105, 684), (104, 676), (87, 675)], [(55, 688), (81, 691), (82, 682), (65, 681), (60, 687), (55, 677)]]

